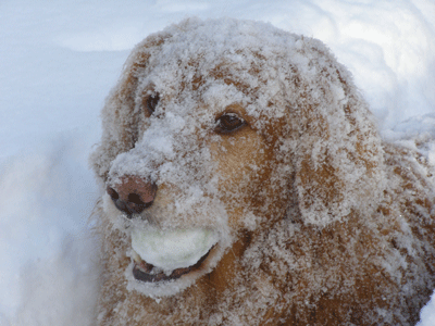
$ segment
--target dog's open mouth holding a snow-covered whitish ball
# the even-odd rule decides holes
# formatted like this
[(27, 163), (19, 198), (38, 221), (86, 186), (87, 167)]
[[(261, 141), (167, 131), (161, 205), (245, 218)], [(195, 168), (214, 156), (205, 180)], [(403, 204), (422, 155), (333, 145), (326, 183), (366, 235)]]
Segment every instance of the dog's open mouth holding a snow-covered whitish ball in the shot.
[(137, 280), (173, 280), (198, 269), (217, 242), (217, 234), (204, 229), (132, 230), (133, 276)]

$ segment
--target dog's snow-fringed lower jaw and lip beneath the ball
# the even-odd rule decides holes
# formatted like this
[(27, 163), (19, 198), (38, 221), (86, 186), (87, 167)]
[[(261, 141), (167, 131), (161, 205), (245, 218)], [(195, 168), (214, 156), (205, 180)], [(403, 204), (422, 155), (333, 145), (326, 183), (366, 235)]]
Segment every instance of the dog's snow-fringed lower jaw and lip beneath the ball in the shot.
[(191, 266), (172, 271), (163, 271), (147, 263), (132, 249), (132, 263), (126, 271), (127, 289), (150, 298), (170, 297), (182, 292), (216, 266), (223, 254), (223, 247), (217, 242)]

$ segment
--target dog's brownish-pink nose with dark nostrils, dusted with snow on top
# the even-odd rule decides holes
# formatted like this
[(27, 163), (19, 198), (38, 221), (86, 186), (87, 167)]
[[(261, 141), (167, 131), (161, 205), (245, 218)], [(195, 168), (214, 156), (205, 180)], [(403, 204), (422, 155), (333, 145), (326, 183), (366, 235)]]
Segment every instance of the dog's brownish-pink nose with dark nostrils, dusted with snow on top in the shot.
[(121, 184), (107, 187), (108, 195), (115, 206), (132, 218), (152, 205), (157, 193), (157, 185), (137, 176), (125, 176)]

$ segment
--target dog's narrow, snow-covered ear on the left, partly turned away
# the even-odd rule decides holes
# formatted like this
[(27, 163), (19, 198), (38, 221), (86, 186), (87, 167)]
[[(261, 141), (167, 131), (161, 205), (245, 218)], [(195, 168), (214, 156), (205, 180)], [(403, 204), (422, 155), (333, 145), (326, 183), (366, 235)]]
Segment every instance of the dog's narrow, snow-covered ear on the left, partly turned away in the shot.
[(138, 43), (124, 64), (121, 78), (110, 91), (101, 112), (102, 137), (91, 153), (89, 163), (95, 173), (105, 179), (111, 162), (122, 152), (132, 149), (138, 137), (140, 112), (136, 105), (139, 80), (146, 74), (148, 61), (169, 37), (154, 34)]

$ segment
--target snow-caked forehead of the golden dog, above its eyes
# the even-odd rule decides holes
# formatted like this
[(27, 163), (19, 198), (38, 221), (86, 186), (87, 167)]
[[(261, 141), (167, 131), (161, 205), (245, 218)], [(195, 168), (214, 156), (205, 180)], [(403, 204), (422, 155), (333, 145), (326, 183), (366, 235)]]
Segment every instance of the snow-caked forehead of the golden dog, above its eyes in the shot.
[(152, 85), (165, 100), (200, 101), (211, 110), (232, 103), (268, 108), (298, 37), (253, 22), (185, 25), (169, 28), (171, 36), (149, 51), (140, 87)]

